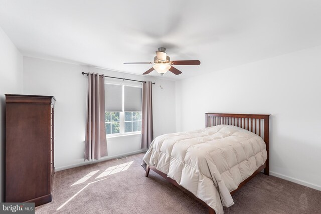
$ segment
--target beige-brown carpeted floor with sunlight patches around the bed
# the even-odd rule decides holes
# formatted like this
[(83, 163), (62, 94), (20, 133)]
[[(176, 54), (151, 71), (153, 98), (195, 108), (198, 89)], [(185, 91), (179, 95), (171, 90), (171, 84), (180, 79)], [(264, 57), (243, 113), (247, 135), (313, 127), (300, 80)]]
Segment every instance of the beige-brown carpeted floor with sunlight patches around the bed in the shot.
[[(163, 177), (140, 166), (143, 153), (58, 171), (53, 201), (36, 213), (208, 213)], [(321, 213), (321, 191), (258, 174), (224, 213)]]

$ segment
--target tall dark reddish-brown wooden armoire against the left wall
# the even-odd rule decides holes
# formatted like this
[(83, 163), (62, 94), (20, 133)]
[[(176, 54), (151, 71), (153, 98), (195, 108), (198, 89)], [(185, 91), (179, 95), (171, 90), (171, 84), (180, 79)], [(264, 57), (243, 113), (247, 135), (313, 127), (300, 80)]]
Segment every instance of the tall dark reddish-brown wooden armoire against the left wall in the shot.
[(52, 201), (55, 101), (6, 94), (6, 202)]

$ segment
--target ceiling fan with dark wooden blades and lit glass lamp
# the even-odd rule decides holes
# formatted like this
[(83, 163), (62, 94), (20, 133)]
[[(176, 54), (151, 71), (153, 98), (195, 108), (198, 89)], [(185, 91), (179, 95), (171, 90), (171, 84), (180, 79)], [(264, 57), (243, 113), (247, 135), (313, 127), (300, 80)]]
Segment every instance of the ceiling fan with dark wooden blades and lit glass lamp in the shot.
[(166, 48), (158, 48), (156, 51), (156, 56), (154, 57), (154, 62), (148, 63), (124, 63), (124, 64), (154, 64), (152, 68), (144, 72), (143, 74), (149, 74), (153, 70), (156, 70), (159, 74), (165, 74), (167, 71), (170, 71), (176, 75), (182, 74), (182, 72), (173, 67), (173, 65), (200, 65), (201, 62), (199, 60), (179, 60), (179, 61), (171, 61), (170, 57), (167, 56), (165, 52)]

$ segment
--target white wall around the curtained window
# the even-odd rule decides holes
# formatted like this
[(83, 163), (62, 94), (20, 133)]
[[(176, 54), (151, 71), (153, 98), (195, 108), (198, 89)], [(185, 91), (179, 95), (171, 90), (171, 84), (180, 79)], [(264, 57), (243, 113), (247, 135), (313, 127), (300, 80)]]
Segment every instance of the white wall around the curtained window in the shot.
[[(85, 111), (87, 76), (81, 72), (98, 72), (107, 76), (127, 79), (150, 80), (153, 87), (154, 137), (175, 132), (175, 82), (157, 78), (130, 75), (87, 66), (24, 57), (24, 93), (53, 95), (55, 105), (55, 168), (61, 170), (84, 162)], [(114, 137), (107, 140), (109, 159), (138, 152), (140, 135)]]

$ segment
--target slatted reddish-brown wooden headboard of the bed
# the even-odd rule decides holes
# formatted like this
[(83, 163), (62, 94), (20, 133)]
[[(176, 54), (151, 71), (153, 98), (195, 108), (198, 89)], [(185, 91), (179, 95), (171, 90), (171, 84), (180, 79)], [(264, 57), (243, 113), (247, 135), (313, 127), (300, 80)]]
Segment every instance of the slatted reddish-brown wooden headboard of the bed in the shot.
[[(270, 114), (205, 113), (205, 126), (233, 125), (259, 135), (266, 144), (266, 171), (269, 171), (269, 116)], [(261, 131), (263, 130), (263, 131)]]

